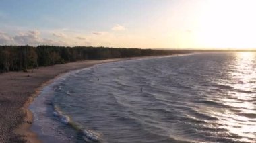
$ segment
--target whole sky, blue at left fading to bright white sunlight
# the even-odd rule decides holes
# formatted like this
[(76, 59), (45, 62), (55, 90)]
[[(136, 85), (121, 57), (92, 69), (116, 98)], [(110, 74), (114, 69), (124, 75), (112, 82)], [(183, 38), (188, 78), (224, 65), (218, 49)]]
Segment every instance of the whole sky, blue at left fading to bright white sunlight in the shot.
[(0, 45), (256, 48), (254, 0), (1, 0)]

